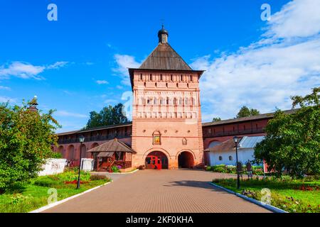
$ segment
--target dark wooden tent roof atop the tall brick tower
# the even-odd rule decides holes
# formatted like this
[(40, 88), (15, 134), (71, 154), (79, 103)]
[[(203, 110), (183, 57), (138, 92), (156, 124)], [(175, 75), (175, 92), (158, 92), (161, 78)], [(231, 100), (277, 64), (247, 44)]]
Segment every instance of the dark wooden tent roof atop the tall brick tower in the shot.
[(191, 71), (191, 67), (169, 43), (159, 43), (139, 69), (143, 70), (184, 70)]

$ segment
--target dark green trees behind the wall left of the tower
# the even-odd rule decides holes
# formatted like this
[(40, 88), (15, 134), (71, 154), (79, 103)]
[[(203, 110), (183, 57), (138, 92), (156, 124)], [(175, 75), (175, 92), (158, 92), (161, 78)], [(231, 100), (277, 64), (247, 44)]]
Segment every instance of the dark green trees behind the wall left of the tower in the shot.
[(99, 113), (97, 113), (97, 111), (91, 111), (89, 121), (87, 121), (87, 126), (85, 128), (111, 126), (126, 122), (128, 122), (128, 119), (124, 112), (124, 105), (119, 103), (115, 106), (106, 106)]

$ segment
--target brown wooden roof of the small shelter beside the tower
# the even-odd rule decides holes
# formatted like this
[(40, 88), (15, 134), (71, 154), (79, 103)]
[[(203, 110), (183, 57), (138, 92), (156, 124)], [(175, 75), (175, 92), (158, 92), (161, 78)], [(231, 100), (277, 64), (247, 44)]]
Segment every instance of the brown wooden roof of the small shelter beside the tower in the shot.
[(109, 140), (102, 145), (97, 146), (96, 148), (92, 148), (87, 152), (90, 153), (109, 153), (109, 152), (127, 152), (127, 153), (136, 153), (134, 150), (129, 148), (129, 146), (115, 138), (114, 140)]

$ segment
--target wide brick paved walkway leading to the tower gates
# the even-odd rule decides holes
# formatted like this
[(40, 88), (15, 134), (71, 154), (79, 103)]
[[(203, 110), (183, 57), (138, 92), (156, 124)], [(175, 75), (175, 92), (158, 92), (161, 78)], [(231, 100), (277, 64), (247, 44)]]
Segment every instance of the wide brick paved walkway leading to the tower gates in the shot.
[(208, 182), (198, 170), (140, 170), (46, 212), (269, 212)]

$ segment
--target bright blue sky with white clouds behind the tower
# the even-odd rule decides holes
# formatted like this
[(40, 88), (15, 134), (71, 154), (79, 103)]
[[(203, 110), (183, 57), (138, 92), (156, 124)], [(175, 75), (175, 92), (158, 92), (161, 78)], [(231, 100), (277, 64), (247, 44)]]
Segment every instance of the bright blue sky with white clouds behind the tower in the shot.
[[(303, 3), (302, 3), (303, 2)], [(58, 6), (48, 21), (47, 6)], [(261, 5), (271, 6), (262, 21)], [(316, 0), (0, 2), (0, 101), (38, 96), (56, 109), (59, 131), (82, 128), (92, 110), (131, 90), (126, 67), (169, 43), (201, 79), (203, 121), (233, 118), (240, 106), (289, 109), (289, 96), (319, 86)], [(318, 7), (316, 7), (318, 6)], [(295, 53), (293, 53), (295, 51)]]

